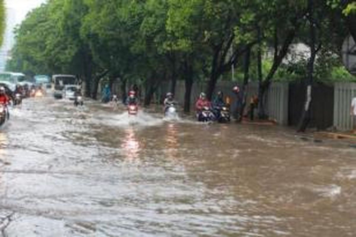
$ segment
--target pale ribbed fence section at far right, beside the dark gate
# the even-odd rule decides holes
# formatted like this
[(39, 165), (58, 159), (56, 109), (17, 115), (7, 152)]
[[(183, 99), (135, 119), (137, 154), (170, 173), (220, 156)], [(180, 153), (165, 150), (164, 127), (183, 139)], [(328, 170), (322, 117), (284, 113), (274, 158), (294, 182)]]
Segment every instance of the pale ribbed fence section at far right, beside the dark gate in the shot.
[(356, 96), (356, 83), (336, 83), (334, 87), (334, 127), (346, 131), (352, 129), (351, 100)]

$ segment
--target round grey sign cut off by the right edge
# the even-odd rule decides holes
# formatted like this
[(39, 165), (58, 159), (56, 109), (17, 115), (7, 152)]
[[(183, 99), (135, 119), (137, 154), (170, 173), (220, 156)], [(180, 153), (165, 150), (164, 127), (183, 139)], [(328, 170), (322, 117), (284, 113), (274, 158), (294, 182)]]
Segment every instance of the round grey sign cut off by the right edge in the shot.
[(347, 36), (342, 44), (342, 62), (349, 72), (356, 75), (356, 44), (352, 36)]

